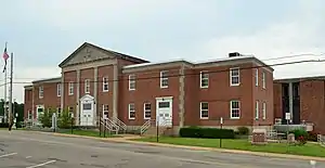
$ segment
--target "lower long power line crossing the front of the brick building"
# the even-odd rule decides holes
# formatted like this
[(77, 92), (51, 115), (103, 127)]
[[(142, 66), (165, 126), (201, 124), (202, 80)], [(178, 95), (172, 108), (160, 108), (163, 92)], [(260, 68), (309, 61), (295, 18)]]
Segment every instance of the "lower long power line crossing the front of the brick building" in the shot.
[[(240, 67), (240, 70), (246, 70), (246, 69), (252, 69), (252, 68), (261, 68), (261, 67), (273, 67), (273, 66), (282, 66), (282, 65), (292, 65), (292, 64), (301, 64), (301, 63), (317, 63), (317, 62), (325, 62), (325, 60), (306, 60), (306, 61), (297, 61), (297, 62), (287, 62), (287, 63), (278, 63), (278, 64), (272, 64), (272, 65), (261, 65), (261, 66), (249, 66), (249, 67)], [(179, 70), (179, 69), (178, 69)], [(230, 69), (221, 69), (221, 70), (208, 70), (206, 74), (218, 74), (218, 73), (227, 73)], [(174, 74), (174, 75), (167, 75), (166, 77), (181, 77), (181, 76), (192, 76), (192, 75), (200, 75), (200, 73), (187, 73), (187, 74)], [(141, 77), (141, 78), (135, 78), (135, 81), (138, 80), (146, 80), (146, 79), (155, 79), (155, 78), (160, 78), (160, 76), (151, 76), (151, 77)], [(121, 81), (121, 80), (130, 80), (129, 78), (123, 78), (123, 79), (108, 79), (107, 82), (112, 81)], [(89, 82), (103, 82), (103, 80), (89, 80)], [(14, 81), (13, 83), (30, 83), (30, 82), (25, 82), (25, 81)], [(55, 82), (53, 82), (55, 83)], [(57, 82), (61, 83), (61, 82)], [(65, 81), (63, 83), (84, 83), (84, 81)]]

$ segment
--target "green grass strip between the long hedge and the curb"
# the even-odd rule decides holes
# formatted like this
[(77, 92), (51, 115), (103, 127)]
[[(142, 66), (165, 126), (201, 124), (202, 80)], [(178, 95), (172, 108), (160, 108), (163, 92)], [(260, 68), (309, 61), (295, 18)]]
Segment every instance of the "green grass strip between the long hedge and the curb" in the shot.
[[(135, 139), (133, 141), (156, 142), (156, 138)], [(203, 147), (219, 147), (219, 139), (190, 139), (190, 138), (168, 138), (160, 137), (160, 143), (188, 145), (188, 146), (203, 146)], [(318, 156), (325, 157), (325, 147), (314, 143), (307, 143), (302, 146), (289, 145), (286, 143), (269, 143), (266, 145), (251, 145), (248, 140), (222, 140), (222, 148), (229, 150), (243, 150), (253, 152), (268, 152), (281, 154), (294, 154), (304, 156)]]

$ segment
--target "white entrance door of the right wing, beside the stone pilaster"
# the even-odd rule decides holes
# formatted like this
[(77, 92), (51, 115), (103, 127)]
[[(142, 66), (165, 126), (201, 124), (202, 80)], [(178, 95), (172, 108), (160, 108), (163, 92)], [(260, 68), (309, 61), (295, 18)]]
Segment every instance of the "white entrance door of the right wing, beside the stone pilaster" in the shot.
[(158, 126), (172, 126), (172, 100), (171, 98), (157, 99), (156, 119)]

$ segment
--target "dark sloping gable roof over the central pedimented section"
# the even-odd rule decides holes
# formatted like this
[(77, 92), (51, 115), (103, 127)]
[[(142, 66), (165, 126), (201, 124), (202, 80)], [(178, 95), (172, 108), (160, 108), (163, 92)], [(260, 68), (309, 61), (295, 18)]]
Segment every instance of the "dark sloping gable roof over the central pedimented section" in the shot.
[(67, 63), (68, 61), (70, 61), (76, 53), (78, 53), (80, 50), (82, 50), (84, 47), (92, 47), (92, 48), (95, 48), (100, 51), (103, 51), (105, 53), (108, 53), (108, 54), (112, 54), (112, 55), (115, 55), (117, 57), (120, 57), (122, 60), (128, 60), (128, 61), (132, 61), (132, 62), (135, 62), (135, 63), (148, 63), (148, 61), (146, 60), (142, 60), (142, 59), (139, 59), (139, 57), (135, 57), (135, 56), (131, 56), (131, 55), (127, 55), (127, 54), (123, 54), (123, 53), (119, 53), (119, 52), (116, 52), (116, 51), (113, 51), (113, 50), (107, 50), (107, 49), (104, 49), (104, 48), (101, 48), (101, 47), (98, 47), (95, 44), (92, 44), (92, 43), (89, 43), (89, 42), (83, 42), (77, 50), (75, 50), (68, 57), (66, 57), (63, 62), (61, 62), (58, 64), (58, 67), (62, 67), (65, 63)]

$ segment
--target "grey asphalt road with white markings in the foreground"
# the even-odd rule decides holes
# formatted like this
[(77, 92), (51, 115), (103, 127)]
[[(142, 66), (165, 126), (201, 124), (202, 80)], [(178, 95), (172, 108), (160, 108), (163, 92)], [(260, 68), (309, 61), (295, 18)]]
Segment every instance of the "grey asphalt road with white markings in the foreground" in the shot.
[[(0, 130), (0, 168), (311, 168), (308, 160)], [(316, 167), (324, 168), (324, 163)]]

